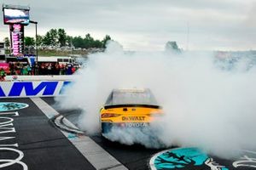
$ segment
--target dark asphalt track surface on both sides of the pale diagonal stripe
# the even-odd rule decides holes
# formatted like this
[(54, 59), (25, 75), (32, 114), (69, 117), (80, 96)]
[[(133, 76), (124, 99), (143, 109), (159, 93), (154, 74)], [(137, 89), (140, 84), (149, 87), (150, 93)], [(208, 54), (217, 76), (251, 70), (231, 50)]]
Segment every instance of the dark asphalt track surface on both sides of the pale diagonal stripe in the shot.
[[(76, 124), (80, 111), (57, 110), (55, 108), (55, 100), (53, 98), (41, 98), (45, 103), (51, 105), (58, 113), (66, 117), (70, 122)], [(93, 154), (87, 156), (86, 153), (79, 150), (78, 143), (73, 142), (72, 134), (70, 132), (61, 131), (60, 127), (56, 127), (52, 119), (49, 119), (44, 114), (44, 111), (38, 108), (32, 99), (0, 99), (0, 102), (20, 102), (29, 105), (25, 109), (17, 111), (19, 116), (7, 115), (13, 119), (15, 128), (12, 133), (0, 133), (0, 169), (20, 170), (84, 170), (84, 169), (148, 169), (149, 160), (154, 154), (161, 150), (150, 150), (144, 148), (142, 145), (124, 145), (113, 143), (107, 139), (102, 138), (100, 134), (90, 135), (88, 139), (96, 143), (104, 151), (103, 155), (107, 154), (115, 160), (112, 160), (117, 165), (113, 167), (98, 168), (96, 163), (100, 161), (93, 161)], [(3, 117), (3, 116), (2, 116)], [(8, 122), (10, 119), (2, 119), (0, 122)], [(69, 138), (69, 135), (71, 135)], [(11, 137), (10, 139), (3, 139), (3, 137)], [(14, 137), (14, 138), (13, 138)], [(88, 141), (88, 140), (86, 140)], [(18, 144), (18, 147), (9, 147), (8, 144)], [(9, 148), (15, 148), (10, 150)], [(81, 149), (81, 147), (80, 147)], [(20, 153), (20, 151), (22, 153)], [(105, 153), (106, 152), (106, 153)], [(97, 153), (96, 153), (97, 154)], [(104, 156), (105, 156), (104, 155)], [(20, 156), (20, 159), (18, 157)], [(92, 158), (92, 159), (91, 159)], [(95, 157), (97, 159), (97, 157)], [(218, 158), (215, 158), (218, 160)], [(16, 160), (16, 161), (12, 161)], [(18, 161), (17, 161), (18, 160)], [(91, 161), (92, 160), (92, 161)], [(103, 160), (104, 161), (104, 160)], [(106, 161), (106, 160), (105, 160)], [(220, 162), (229, 162), (229, 160), (220, 160)], [(101, 162), (100, 162), (101, 163)], [(108, 164), (108, 162), (106, 162)], [(253, 160), (255, 165), (255, 160)], [(104, 162), (103, 162), (104, 164)], [(190, 168), (189, 168), (190, 169)], [(191, 169), (205, 169), (195, 168)], [(207, 168), (211, 169), (211, 168)], [(229, 169), (235, 169), (229, 167)], [(240, 168), (237, 169), (256, 169), (256, 168)]]

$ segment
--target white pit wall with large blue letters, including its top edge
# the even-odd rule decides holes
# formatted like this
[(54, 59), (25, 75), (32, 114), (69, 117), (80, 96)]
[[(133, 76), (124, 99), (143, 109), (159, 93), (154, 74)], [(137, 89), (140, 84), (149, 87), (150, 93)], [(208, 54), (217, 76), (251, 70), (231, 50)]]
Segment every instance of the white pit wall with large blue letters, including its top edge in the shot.
[(8, 76), (0, 82), (0, 99), (53, 97), (64, 93), (74, 76)]

